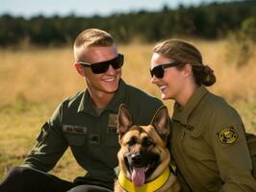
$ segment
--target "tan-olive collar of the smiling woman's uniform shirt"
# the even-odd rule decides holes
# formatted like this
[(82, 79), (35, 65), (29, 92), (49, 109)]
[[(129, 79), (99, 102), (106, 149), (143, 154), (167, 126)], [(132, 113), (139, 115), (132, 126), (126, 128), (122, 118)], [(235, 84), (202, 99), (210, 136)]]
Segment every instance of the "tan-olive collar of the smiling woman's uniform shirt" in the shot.
[(172, 119), (182, 123), (183, 125), (188, 125), (188, 119), (192, 110), (208, 92), (207, 88), (201, 85), (195, 89), (192, 97), (189, 99), (185, 107), (181, 107), (177, 102), (175, 102)]

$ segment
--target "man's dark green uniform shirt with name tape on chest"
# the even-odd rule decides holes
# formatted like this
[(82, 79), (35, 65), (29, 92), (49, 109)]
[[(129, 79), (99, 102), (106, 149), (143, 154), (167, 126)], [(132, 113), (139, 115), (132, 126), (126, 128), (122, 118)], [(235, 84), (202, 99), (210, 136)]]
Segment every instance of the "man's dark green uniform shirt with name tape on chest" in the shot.
[(139, 125), (149, 124), (163, 105), (160, 100), (120, 80), (115, 98), (98, 114), (89, 91), (79, 92), (64, 100), (42, 126), (38, 143), (23, 166), (47, 172), (70, 146), (76, 161), (88, 172), (74, 182), (113, 188), (119, 150), (116, 115), (122, 103), (131, 110), (134, 123)]

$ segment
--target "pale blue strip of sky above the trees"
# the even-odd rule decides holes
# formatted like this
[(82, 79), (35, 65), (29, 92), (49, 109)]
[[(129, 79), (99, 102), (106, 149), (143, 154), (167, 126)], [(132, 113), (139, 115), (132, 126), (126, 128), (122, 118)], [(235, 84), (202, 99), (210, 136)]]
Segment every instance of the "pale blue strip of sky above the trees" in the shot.
[(0, 15), (9, 13), (30, 17), (43, 14), (90, 16), (108, 15), (114, 12), (131, 12), (141, 9), (156, 11), (167, 5), (176, 8), (178, 5), (198, 5), (200, 3), (223, 2), (228, 0), (0, 0)]

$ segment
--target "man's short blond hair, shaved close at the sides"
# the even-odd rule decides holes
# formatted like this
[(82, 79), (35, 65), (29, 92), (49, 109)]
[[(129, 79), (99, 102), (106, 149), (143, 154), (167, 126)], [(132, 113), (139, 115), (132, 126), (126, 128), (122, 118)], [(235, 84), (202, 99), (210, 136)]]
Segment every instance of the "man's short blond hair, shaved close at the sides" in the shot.
[(109, 33), (99, 29), (87, 29), (81, 32), (74, 42), (74, 56), (78, 61), (88, 47), (113, 46), (115, 40)]

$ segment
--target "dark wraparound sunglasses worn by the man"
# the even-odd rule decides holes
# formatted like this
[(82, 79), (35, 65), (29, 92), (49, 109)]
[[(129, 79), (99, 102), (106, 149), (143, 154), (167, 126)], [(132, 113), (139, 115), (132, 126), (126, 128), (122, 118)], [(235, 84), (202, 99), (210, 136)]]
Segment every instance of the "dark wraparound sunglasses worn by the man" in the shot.
[(110, 65), (112, 65), (112, 67), (114, 69), (121, 68), (121, 66), (123, 65), (123, 55), (118, 54), (115, 59), (106, 60), (106, 61), (102, 61), (102, 62), (88, 63), (88, 62), (79, 61), (77, 63), (82, 64), (85, 67), (90, 67), (92, 73), (94, 73), (94, 74), (100, 74), (100, 73), (107, 72)]

